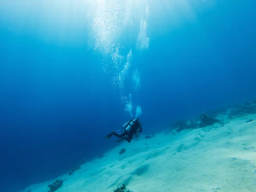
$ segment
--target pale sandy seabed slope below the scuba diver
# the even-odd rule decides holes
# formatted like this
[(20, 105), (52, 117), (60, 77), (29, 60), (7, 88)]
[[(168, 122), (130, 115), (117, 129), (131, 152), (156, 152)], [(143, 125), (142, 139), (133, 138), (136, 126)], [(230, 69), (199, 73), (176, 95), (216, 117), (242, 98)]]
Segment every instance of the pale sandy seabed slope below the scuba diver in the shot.
[[(57, 192), (112, 192), (123, 183), (134, 192), (256, 192), (256, 120), (247, 119), (256, 115), (122, 143), (60, 177)], [(48, 184), (28, 189), (47, 192)]]

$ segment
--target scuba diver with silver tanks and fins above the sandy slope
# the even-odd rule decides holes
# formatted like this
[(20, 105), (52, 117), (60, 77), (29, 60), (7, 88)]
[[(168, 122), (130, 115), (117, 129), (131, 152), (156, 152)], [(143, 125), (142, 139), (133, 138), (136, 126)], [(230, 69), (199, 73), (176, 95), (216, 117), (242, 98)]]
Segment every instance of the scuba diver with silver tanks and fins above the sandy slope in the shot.
[(120, 138), (116, 142), (121, 142), (123, 140), (128, 141), (128, 143), (131, 143), (132, 137), (134, 134), (140, 133), (142, 131), (141, 123), (139, 118), (131, 119), (130, 121), (126, 122), (125, 125), (123, 125), (125, 131), (123, 131), (120, 134), (115, 133), (115, 131), (111, 131), (110, 134), (106, 135), (104, 137), (105, 140), (108, 140), (112, 135)]

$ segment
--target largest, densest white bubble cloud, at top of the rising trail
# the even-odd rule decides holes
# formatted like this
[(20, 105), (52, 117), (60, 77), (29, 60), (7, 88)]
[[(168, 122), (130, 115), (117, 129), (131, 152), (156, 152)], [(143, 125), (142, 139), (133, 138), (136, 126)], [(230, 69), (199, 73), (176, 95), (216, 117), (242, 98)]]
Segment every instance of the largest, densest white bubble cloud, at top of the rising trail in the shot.
[(90, 33), (89, 45), (96, 52), (111, 55), (119, 40), (119, 6), (117, 0), (81, 0)]

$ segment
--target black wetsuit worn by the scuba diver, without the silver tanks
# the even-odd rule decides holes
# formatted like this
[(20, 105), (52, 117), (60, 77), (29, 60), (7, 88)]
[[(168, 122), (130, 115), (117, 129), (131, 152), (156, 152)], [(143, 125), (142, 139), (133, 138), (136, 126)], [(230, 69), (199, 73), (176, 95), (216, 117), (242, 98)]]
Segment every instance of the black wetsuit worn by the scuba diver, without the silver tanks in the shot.
[[(134, 119), (131, 119), (130, 122), (134, 120)], [(130, 123), (129, 122), (129, 123)], [(128, 125), (129, 125), (128, 123)], [(126, 128), (126, 127), (125, 127)], [(122, 140), (126, 140), (128, 141), (128, 143), (131, 143), (131, 140), (132, 140), (132, 137), (134, 134), (137, 134), (137, 133), (140, 133), (142, 131), (142, 127), (141, 127), (141, 124), (138, 120), (136, 120), (134, 122), (134, 125), (131, 127), (130, 131), (123, 131), (121, 134), (117, 134), (115, 133), (114, 131), (111, 133), (110, 137), (112, 135), (120, 138), (121, 140), (118, 140), (118, 141), (122, 141)]]

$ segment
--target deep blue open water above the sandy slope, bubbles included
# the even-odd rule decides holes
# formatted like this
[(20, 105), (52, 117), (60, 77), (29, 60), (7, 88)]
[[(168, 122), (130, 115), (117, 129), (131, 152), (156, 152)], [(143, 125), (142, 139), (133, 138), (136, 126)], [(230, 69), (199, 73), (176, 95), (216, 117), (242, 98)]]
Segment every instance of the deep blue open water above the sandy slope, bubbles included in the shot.
[[(13, 192), (143, 134), (256, 99), (256, 1), (0, 2), (0, 183)], [(137, 109), (137, 110), (136, 110)]]

